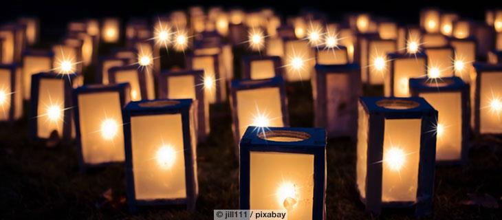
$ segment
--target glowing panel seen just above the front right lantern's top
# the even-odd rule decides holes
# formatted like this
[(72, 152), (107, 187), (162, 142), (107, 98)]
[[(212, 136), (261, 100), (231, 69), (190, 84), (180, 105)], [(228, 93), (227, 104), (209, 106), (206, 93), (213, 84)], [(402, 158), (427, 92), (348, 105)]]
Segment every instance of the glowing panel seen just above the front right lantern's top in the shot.
[(424, 58), (406, 58), (394, 61), (394, 96), (409, 97), (410, 78), (426, 76), (426, 61)]

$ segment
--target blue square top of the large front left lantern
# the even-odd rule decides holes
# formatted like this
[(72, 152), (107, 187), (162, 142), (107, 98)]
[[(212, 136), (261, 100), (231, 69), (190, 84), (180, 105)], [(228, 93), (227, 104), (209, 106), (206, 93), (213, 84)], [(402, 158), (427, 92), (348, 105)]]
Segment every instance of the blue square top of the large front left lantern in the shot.
[(190, 109), (191, 99), (157, 99), (129, 102), (124, 111), (130, 115), (154, 115), (159, 113), (177, 113)]

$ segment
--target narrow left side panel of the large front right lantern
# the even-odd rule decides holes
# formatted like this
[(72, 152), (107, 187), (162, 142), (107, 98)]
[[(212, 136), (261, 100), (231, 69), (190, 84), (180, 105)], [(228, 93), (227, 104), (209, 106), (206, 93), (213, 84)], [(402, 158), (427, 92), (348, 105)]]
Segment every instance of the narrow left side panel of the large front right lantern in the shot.
[(368, 132), (369, 115), (364, 111), (362, 104), (358, 104), (358, 145), (357, 145), (357, 164), (356, 176), (360, 196), (366, 198), (366, 174), (368, 158)]

